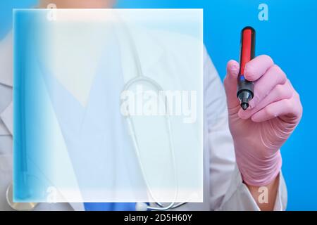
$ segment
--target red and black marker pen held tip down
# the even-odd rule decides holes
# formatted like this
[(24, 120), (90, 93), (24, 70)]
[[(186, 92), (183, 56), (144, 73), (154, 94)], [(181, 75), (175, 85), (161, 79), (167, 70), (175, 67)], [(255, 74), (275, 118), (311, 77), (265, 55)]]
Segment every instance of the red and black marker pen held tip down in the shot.
[(254, 83), (244, 78), (244, 67), (254, 58), (255, 30), (252, 27), (244, 27), (241, 32), (240, 43), (240, 71), (237, 78), (237, 98), (239, 98), (243, 110), (249, 107), (249, 101), (254, 96)]

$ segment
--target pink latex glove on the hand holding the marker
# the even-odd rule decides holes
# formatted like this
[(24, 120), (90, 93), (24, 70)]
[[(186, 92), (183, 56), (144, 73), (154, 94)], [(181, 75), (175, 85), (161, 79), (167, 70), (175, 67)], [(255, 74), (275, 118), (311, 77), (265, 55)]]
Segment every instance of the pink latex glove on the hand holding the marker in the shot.
[(263, 55), (245, 66), (254, 98), (244, 111), (237, 98), (238, 72), (239, 63), (230, 60), (224, 84), (237, 165), (246, 184), (266, 186), (280, 172), (280, 147), (299, 123), (302, 104), (285, 73)]

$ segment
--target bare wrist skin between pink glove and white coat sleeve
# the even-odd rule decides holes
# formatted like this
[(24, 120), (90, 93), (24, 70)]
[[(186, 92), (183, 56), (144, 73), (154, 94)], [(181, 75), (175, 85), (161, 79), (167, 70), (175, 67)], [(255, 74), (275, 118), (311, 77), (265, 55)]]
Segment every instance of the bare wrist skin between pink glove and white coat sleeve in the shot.
[(278, 193), (279, 176), (280, 175), (276, 176), (276, 178), (266, 186), (251, 186), (246, 184), (260, 210), (268, 211), (274, 209), (275, 199)]

